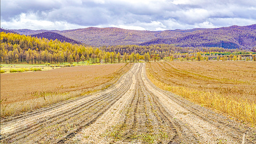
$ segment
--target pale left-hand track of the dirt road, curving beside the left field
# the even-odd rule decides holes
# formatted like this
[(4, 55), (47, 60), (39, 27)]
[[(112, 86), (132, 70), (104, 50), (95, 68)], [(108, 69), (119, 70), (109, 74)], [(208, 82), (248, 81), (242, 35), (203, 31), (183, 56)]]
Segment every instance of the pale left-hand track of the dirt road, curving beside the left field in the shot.
[[(37, 111), (38, 115), (36, 115), (35, 114), (36, 112), (34, 112), (34, 113), (31, 113), (30, 115), (24, 114), (24, 116), (19, 116), (20, 119), (14, 119), (14, 120), (7, 119), (7, 120), (3, 120), (3, 122), (1, 121), (1, 143), (12, 143), (12, 142), (16, 143), (19, 140), (21, 140), (24, 143), (28, 141), (33, 141), (33, 140), (35, 140), (34, 142), (39, 142), (40, 139), (42, 140), (42, 137), (49, 135), (47, 134), (49, 130), (45, 130), (45, 127), (52, 127), (54, 125), (58, 127), (60, 123), (63, 123), (64, 121), (69, 121), (70, 119), (72, 119), (70, 121), (72, 121), (74, 125), (79, 126), (81, 125), (82, 122), (85, 122), (85, 120), (87, 120), (85, 118), (84, 120), (81, 120), (78, 118), (79, 116), (81, 117), (87, 116), (86, 118), (88, 118), (88, 117), (91, 117), (92, 115), (97, 115), (97, 116), (101, 115), (104, 112), (104, 110), (108, 109), (110, 105), (112, 105), (115, 101), (117, 101), (122, 96), (122, 93), (128, 89), (128, 86), (131, 84), (131, 81), (129, 81), (129, 77), (131, 77), (131, 75), (134, 73), (133, 71), (134, 71), (134, 66), (129, 72), (124, 74), (116, 84), (110, 86), (108, 89), (104, 91), (100, 91), (92, 95), (83, 96), (81, 98), (71, 100), (69, 102), (65, 102), (64, 106), (59, 105), (57, 107), (53, 106), (49, 108), (39, 109)], [(121, 95), (116, 95), (116, 93), (120, 93)], [(106, 105), (106, 102), (108, 102), (108, 105)], [(98, 111), (100, 111), (98, 113), (97, 111), (95, 111), (95, 109), (93, 109), (99, 106), (99, 105), (96, 105), (97, 103), (100, 103), (102, 106), (105, 106), (105, 107), (100, 107), (103, 109), (103, 111), (100, 111), (101, 109), (98, 108)], [(92, 106), (95, 106), (95, 107), (92, 107)], [(83, 111), (85, 111), (86, 108), (87, 110), (91, 110), (91, 112), (84, 113)], [(74, 122), (75, 121), (74, 116), (76, 116), (76, 118), (78, 119), (77, 120), (78, 122)], [(90, 123), (93, 120), (94, 119), (92, 120), (88, 119), (87, 121), (89, 121)], [(4, 123), (5, 121), (7, 121), (6, 124)], [(77, 128), (77, 126), (73, 127), (73, 129)], [(37, 135), (36, 133), (39, 133), (39, 132), (40, 134)], [(62, 134), (64, 135), (67, 133), (68, 132), (62, 132)], [(53, 134), (50, 134), (50, 135), (54, 135), (54, 132)], [(30, 139), (31, 137), (32, 139)], [(43, 140), (43, 141), (47, 142), (47, 140)], [(52, 141), (49, 141), (49, 142), (52, 142)]]

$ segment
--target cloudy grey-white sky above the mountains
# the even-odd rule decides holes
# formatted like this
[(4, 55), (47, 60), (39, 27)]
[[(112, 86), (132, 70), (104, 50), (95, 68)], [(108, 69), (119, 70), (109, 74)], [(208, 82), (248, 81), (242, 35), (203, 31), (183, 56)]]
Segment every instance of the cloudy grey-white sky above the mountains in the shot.
[(256, 0), (0, 0), (1, 27), (65, 30), (213, 28), (256, 24)]

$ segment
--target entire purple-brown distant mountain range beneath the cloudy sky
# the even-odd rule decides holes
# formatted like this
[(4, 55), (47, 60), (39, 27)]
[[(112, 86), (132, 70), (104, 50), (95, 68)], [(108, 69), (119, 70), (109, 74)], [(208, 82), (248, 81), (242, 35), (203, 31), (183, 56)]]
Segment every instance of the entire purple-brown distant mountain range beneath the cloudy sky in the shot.
[[(248, 26), (233, 25), (220, 28), (195, 28), (188, 30), (138, 31), (121, 28), (88, 27), (73, 30), (29, 30), (12, 29), (24, 35), (54, 39), (56, 34), (73, 39), (78, 43), (91, 46), (111, 45), (155, 45), (171, 44), (178, 47), (222, 47), (254, 48), (256, 47), (256, 24)], [(45, 33), (45, 32), (51, 32)], [(44, 34), (45, 33), (45, 34)], [(52, 34), (56, 33), (56, 34)], [(59, 38), (58, 38), (59, 39)], [(60, 40), (60, 39), (59, 39)]]

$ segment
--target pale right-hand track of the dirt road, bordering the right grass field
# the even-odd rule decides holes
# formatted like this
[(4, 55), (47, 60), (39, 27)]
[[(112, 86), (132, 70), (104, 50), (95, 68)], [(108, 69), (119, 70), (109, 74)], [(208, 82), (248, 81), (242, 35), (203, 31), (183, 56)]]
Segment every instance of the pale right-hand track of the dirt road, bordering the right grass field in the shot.
[(187, 125), (186, 127), (191, 130), (189, 133), (195, 133), (199, 142), (241, 144), (243, 133), (246, 132), (246, 143), (256, 143), (255, 129), (229, 120), (207, 108), (197, 106), (180, 96), (163, 91), (152, 84), (146, 76), (145, 80), (148, 82), (146, 85), (148, 90), (157, 96), (166, 111), (175, 116), (180, 121), (179, 123)]

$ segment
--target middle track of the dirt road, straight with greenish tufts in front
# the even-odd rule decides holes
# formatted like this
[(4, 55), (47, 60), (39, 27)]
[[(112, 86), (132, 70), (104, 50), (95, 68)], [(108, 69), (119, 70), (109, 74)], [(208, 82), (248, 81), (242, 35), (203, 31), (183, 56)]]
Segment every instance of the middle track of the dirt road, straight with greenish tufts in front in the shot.
[[(127, 99), (126, 103), (122, 106), (118, 106), (118, 102), (112, 105), (108, 109), (109, 112), (67, 143), (175, 144), (181, 142), (179, 132), (183, 134), (185, 130), (177, 130), (183, 127), (179, 128), (181, 127), (179, 123), (173, 121), (171, 115), (161, 107), (157, 96), (146, 89), (146, 82), (142, 75), (145, 65), (141, 63), (136, 65), (140, 67), (135, 75), (135, 81), (133, 80), (134, 88), (130, 88), (133, 93), (122, 97)], [(190, 139), (189, 142), (196, 142), (196, 138), (191, 135), (188, 134), (186, 138)]]

